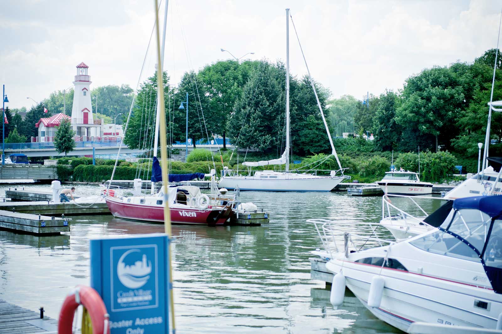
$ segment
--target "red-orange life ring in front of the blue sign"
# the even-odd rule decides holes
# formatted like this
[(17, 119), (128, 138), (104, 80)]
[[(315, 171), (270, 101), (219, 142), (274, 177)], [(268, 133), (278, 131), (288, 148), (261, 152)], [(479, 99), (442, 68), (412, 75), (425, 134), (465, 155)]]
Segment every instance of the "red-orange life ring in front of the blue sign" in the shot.
[(71, 334), (73, 318), (78, 305), (83, 305), (91, 318), (93, 334), (109, 333), (109, 315), (103, 299), (89, 286), (77, 285), (63, 301), (58, 319), (58, 334)]

